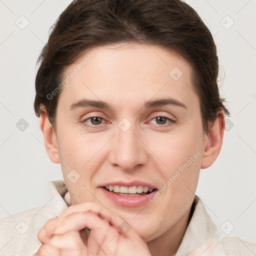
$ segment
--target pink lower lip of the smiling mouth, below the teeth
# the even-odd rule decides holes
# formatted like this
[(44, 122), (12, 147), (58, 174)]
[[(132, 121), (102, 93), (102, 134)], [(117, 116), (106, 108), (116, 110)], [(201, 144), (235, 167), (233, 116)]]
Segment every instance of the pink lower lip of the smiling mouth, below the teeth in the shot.
[(142, 206), (149, 201), (149, 197), (154, 196), (154, 194), (157, 192), (157, 190), (144, 195), (135, 195), (135, 196), (129, 196), (129, 195), (119, 195), (113, 192), (110, 192), (103, 187), (100, 187), (104, 195), (109, 198), (111, 201), (113, 201), (115, 204), (122, 205), (122, 206), (128, 206), (128, 207), (138, 207)]

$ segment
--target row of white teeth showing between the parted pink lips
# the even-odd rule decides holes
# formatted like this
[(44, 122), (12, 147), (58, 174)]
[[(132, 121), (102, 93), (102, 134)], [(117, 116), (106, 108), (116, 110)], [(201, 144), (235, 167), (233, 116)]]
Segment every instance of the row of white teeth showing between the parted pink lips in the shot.
[(150, 194), (155, 191), (155, 188), (142, 186), (142, 185), (133, 185), (133, 186), (123, 186), (123, 185), (108, 185), (102, 186), (103, 189), (124, 196), (141, 196)]

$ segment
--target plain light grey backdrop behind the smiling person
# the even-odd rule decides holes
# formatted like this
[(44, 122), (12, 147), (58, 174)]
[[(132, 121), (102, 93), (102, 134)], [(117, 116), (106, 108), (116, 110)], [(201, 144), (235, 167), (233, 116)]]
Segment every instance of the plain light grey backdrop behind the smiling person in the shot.
[[(0, 0), (0, 217), (48, 203), (49, 181), (62, 179), (60, 165), (46, 154), (33, 100), (36, 59), (70, 2)], [(186, 2), (214, 35), (220, 93), (231, 112), (221, 152), (201, 170), (196, 194), (220, 234), (256, 243), (256, 1)], [(22, 123), (16, 126), (21, 118), (28, 123), (23, 131)]]

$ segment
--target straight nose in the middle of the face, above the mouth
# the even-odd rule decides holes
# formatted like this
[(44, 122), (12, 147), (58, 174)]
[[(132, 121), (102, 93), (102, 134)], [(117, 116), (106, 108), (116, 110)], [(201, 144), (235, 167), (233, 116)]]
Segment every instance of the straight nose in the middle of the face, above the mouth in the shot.
[(135, 125), (132, 124), (127, 130), (121, 125), (117, 126), (116, 135), (111, 143), (109, 161), (115, 167), (119, 166), (124, 171), (132, 171), (137, 165), (146, 165), (147, 147), (143, 141), (143, 135)]

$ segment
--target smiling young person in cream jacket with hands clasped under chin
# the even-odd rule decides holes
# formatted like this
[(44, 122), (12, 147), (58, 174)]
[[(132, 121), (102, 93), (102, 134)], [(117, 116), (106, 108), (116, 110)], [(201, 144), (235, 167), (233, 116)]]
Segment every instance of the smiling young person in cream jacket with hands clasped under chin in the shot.
[[(51, 182), (52, 204), (1, 220), (1, 253), (256, 253), (239, 238), (220, 239), (194, 195), (229, 112), (214, 41), (191, 7), (75, 0), (39, 61), (35, 113), (64, 182)], [(17, 234), (17, 224), (29, 228)]]

